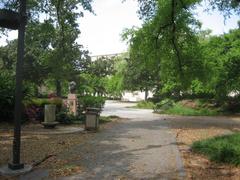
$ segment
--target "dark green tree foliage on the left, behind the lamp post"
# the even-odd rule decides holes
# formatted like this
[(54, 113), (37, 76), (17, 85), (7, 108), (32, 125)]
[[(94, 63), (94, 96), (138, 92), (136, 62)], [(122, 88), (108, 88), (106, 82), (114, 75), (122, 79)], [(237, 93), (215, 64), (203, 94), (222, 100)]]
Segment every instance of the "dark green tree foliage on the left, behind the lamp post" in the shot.
[[(6, 8), (19, 7), (19, 1), (15, 0), (0, 3)], [(84, 11), (93, 12), (91, 3), (92, 0), (27, 1), (31, 16), (26, 27), (24, 79), (35, 84), (36, 96), (38, 87), (49, 79), (55, 81), (55, 90), (61, 96), (63, 83), (76, 80), (76, 74), (85, 70), (84, 61), (88, 61), (89, 56), (88, 51), (76, 43), (80, 34), (77, 20), (83, 17)], [(40, 20), (43, 14), (44, 20)], [(2, 55), (4, 62), (8, 62), (4, 66), (11, 66), (14, 72), (16, 41), (10, 42)]]

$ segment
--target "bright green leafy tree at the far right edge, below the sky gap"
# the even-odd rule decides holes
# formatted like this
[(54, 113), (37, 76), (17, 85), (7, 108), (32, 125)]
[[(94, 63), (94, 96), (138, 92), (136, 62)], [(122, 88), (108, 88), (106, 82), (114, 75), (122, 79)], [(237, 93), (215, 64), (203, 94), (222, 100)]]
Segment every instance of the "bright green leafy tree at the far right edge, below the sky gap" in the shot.
[[(231, 92), (240, 90), (240, 29), (219, 37), (213, 36), (203, 42), (208, 81), (204, 90), (210, 89), (215, 97), (226, 100)], [(214, 49), (214, 51), (213, 51)]]

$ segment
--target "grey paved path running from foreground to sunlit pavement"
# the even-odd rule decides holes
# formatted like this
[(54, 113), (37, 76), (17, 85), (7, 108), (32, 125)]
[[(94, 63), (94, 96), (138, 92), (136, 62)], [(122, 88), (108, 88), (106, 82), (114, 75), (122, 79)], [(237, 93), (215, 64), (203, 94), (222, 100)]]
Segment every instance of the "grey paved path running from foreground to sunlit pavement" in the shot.
[[(108, 101), (102, 115), (128, 118), (67, 153), (79, 153), (81, 174), (61, 179), (184, 179), (175, 134), (151, 110)], [(67, 155), (67, 154), (66, 154)], [(63, 154), (64, 156), (64, 154)]]

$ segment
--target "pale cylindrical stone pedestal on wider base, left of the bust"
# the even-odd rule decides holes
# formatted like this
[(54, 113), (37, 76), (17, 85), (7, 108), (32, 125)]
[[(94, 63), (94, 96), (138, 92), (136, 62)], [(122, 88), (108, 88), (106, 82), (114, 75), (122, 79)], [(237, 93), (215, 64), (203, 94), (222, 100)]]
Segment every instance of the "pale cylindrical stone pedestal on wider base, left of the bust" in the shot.
[(54, 128), (58, 122), (56, 121), (56, 105), (47, 104), (44, 107), (44, 122), (42, 125), (45, 128)]

